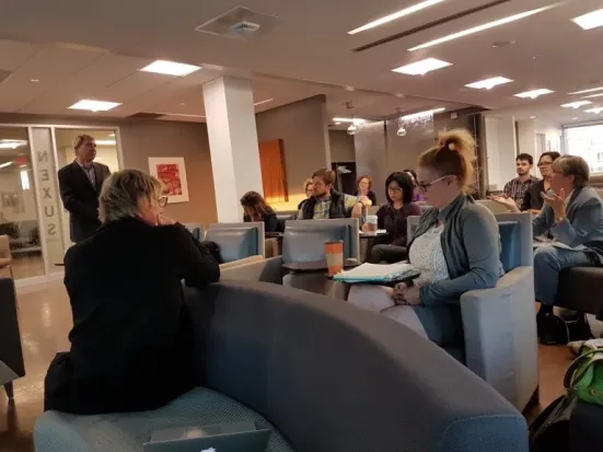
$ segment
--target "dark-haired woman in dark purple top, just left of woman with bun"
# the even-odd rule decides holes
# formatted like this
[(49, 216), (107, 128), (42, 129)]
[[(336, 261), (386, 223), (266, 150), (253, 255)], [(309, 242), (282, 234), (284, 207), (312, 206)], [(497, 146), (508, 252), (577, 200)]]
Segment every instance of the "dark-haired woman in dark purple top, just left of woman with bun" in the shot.
[(387, 231), (389, 244), (373, 246), (370, 263), (392, 264), (406, 258), (407, 218), (421, 215), (419, 206), (413, 202), (414, 188), (415, 184), (406, 173), (392, 173), (385, 181), (387, 204), (376, 211), (376, 224)]

